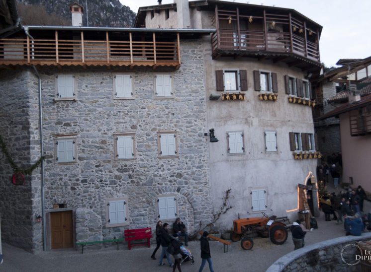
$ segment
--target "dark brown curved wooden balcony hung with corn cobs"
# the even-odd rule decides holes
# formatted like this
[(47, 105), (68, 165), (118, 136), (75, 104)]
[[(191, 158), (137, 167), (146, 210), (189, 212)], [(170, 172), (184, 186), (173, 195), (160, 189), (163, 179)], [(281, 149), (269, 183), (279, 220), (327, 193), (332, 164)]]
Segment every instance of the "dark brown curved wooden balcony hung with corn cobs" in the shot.
[(318, 69), (320, 26), (305, 18), (293, 17), (290, 12), (273, 11), (268, 13), (259, 7), (252, 11), (238, 7), (235, 10), (218, 9), (216, 5), (213, 59), (245, 56)]

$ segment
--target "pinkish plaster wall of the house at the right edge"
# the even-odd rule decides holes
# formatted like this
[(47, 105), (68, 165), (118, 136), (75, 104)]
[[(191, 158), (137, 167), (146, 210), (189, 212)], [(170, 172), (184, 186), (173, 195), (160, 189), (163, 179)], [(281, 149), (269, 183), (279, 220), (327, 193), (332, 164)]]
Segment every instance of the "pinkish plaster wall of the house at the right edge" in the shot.
[(343, 181), (353, 177), (352, 187), (361, 185), (371, 192), (371, 135), (351, 136), (349, 113), (340, 116), (341, 149), (343, 159)]

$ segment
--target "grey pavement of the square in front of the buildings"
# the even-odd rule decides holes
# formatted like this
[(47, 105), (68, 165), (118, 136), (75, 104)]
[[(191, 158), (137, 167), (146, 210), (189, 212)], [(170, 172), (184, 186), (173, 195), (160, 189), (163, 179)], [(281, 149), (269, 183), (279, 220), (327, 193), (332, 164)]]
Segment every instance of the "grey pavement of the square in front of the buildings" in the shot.
[[(334, 190), (329, 188), (329, 192)], [(369, 211), (371, 204), (365, 201), (365, 211)], [(311, 245), (345, 235), (343, 224), (336, 221), (325, 221), (324, 214), (317, 219), (318, 229), (308, 232), (305, 245)], [(291, 233), (283, 245), (274, 245), (269, 238), (254, 238), (254, 247), (244, 251), (240, 242), (229, 246), (229, 251), (223, 253), (223, 244), (210, 240), (211, 258), (215, 272), (263, 272), (266, 271), (278, 258), (293, 250)], [(144, 246), (134, 247), (130, 251), (126, 244), (120, 244), (119, 250), (115, 245), (98, 250), (53, 250), (31, 254), (16, 247), (2, 244), (4, 262), (0, 265), (0, 272), (165, 272), (171, 271), (166, 265), (159, 267), (158, 258), (161, 250), (157, 252), (154, 261), (150, 258), (154, 249)], [(195, 264), (190, 262), (182, 265), (183, 272), (198, 271), (201, 263), (199, 241), (190, 241), (187, 247), (195, 258)], [(80, 247), (79, 247), (80, 249)], [(161, 248), (160, 248), (161, 249)], [(340, 253), (339, 253), (340, 254)], [(173, 258), (172, 258), (173, 259)], [(164, 263), (167, 264), (166, 259)], [(209, 271), (207, 264), (203, 271)]]

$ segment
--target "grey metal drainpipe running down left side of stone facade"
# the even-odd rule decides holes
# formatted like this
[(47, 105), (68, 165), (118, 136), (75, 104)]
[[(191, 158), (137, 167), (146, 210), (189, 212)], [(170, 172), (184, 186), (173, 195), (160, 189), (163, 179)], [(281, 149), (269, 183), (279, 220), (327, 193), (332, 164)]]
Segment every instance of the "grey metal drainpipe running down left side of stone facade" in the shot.
[[(30, 39), (33, 40), (33, 37), (28, 33), (28, 29), (24, 27), (24, 32)], [(42, 100), (41, 100), (41, 77), (36, 67), (32, 65), (32, 68), (35, 71), (35, 74), (39, 81), (39, 115), (40, 115), (40, 145), (41, 145), (41, 156), (44, 155), (44, 133), (43, 133), (43, 124), (42, 124)], [(45, 222), (45, 193), (44, 193), (44, 160), (41, 161), (41, 209), (42, 209), (42, 231), (43, 231), (43, 247), (46, 251), (46, 222)]]

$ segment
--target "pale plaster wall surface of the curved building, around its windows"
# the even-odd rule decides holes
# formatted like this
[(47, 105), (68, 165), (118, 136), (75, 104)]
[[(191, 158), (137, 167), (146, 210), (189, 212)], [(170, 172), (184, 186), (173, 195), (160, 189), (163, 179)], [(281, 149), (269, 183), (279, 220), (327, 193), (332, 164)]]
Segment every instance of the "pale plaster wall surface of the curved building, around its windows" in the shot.
[[(229, 204), (233, 206), (216, 223), (220, 229), (230, 229), (238, 217), (262, 216), (253, 213), (251, 189), (267, 190), (265, 210), (269, 215), (297, 218), (297, 184), (304, 184), (311, 171), (316, 173), (316, 159), (294, 160), (289, 146), (289, 132), (314, 133), (311, 108), (288, 102), (284, 91), (284, 75), (304, 78), (304, 72), (288, 68), (285, 64), (255, 59), (219, 58), (212, 60), (209, 37), (204, 38), (205, 79), (208, 129), (215, 129), (218, 142), (209, 143), (210, 183), (212, 186), (214, 212), (222, 205), (225, 191), (232, 189)], [(216, 91), (215, 70), (239, 68), (247, 70), (248, 90), (246, 100), (209, 100)], [(269, 70), (278, 75), (278, 101), (260, 101), (254, 90), (254, 70)], [(227, 132), (244, 133), (243, 155), (228, 154)], [(277, 152), (266, 152), (265, 131), (277, 132)]]

